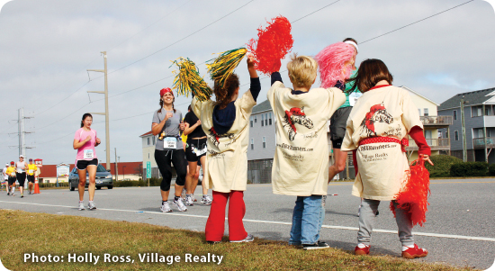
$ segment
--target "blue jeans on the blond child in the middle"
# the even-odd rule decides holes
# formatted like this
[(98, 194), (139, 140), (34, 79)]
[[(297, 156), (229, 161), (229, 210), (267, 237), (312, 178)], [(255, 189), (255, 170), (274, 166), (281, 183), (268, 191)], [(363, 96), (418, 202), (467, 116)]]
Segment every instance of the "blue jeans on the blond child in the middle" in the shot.
[(325, 219), (326, 195), (298, 196), (293, 212), (290, 245), (315, 244)]

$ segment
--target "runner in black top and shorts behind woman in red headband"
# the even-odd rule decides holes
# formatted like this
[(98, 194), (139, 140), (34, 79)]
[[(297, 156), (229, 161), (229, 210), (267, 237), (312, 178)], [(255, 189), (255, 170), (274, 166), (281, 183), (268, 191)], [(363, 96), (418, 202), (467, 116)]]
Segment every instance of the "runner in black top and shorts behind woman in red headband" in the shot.
[[(184, 135), (187, 136), (185, 149), (185, 158), (188, 162), (187, 176), (185, 177), (185, 205), (193, 205), (193, 194), (198, 185), (200, 167), (206, 163), (206, 134), (202, 131), (201, 121), (196, 115), (191, 112), (191, 105), (188, 108), (189, 112), (184, 117)], [(204, 172), (204, 169), (202, 170)], [(201, 203), (204, 205), (211, 204), (211, 197), (208, 195), (208, 189), (202, 185)]]

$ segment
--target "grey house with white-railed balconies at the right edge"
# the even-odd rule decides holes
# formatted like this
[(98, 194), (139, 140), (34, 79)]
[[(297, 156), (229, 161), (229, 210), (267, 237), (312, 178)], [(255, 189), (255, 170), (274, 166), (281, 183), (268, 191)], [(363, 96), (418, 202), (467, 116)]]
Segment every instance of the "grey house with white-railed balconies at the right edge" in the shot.
[[(463, 103), (464, 111), (461, 111)], [(438, 115), (453, 119), (450, 130), (441, 130), (451, 144), (451, 155), (467, 161), (495, 163), (495, 88), (455, 95), (438, 108)], [(464, 131), (463, 136), (463, 116)]]

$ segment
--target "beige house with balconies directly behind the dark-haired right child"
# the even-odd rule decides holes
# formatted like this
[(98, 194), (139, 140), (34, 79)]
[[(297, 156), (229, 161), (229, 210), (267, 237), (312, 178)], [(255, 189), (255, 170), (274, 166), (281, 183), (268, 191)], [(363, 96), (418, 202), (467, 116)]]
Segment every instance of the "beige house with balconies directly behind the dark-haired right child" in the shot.
[[(418, 107), (419, 118), (423, 122), (423, 128), (427, 143), (431, 148), (431, 155), (448, 154), (450, 155), (450, 132), (442, 136), (438, 129), (446, 129), (449, 131), (449, 126), (452, 125), (452, 116), (438, 116), (437, 107), (440, 104), (433, 102), (427, 97), (420, 95), (407, 86), (401, 86), (410, 93), (412, 102)], [(418, 158), (418, 146), (414, 140), (410, 139), (410, 146), (406, 148), (410, 161)]]

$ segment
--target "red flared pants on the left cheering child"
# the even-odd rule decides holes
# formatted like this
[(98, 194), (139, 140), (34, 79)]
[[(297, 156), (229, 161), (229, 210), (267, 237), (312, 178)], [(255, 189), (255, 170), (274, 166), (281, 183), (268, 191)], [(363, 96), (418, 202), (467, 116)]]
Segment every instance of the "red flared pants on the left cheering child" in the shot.
[(242, 223), (244, 214), (246, 214), (243, 196), (243, 191), (231, 191), (230, 193), (213, 191), (213, 202), (205, 229), (207, 241), (221, 241), (225, 230), (225, 207), (229, 197), (229, 240), (237, 241), (247, 237)]

